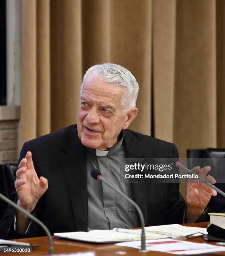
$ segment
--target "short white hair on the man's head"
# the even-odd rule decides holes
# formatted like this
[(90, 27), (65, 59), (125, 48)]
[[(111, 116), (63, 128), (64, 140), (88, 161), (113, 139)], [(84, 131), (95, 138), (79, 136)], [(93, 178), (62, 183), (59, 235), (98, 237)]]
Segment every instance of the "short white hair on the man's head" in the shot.
[(128, 69), (112, 63), (97, 64), (89, 69), (84, 74), (80, 94), (84, 86), (85, 79), (92, 75), (93, 77), (100, 77), (109, 84), (115, 84), (125, 88), (127, 94), (123, 96), (122, 105), (126, 110), (136, 106), (136, 100), (138, 97), (138, 82), (136, 81), (133, 74)]

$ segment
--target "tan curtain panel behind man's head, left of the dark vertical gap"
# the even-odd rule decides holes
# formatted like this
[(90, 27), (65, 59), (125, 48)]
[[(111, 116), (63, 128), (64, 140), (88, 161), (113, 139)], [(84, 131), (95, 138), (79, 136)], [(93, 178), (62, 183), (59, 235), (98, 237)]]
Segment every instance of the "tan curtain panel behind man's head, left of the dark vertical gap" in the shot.
[(20, 147), (76, 123), (82, 75), (128, 68), (140, 87), (133, 129), (150, 134), (152, 1), (22, 0)]

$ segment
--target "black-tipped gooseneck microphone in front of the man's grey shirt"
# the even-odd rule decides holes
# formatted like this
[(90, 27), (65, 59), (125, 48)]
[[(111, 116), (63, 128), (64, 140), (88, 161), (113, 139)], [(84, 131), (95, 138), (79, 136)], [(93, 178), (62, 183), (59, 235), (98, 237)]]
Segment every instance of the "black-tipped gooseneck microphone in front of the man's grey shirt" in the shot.
[(147, 252), (146, 251), (146, 236), (145, 236), (145, 221), (144, 221), (144, 217), (143, 217), (143, 214), (141, 212), (140, 207), (136, 204), (136, 202), (131, 200), (129, 197), (127, 197), (122, 192), (120, 192), (117, 188), (113, 187), (112, 184), (107, 182), (107, 180), (102, 177), (102, 174), (100, 173), (99, 170), (93, 169), (91, 171), (91, 176), (92, 176), (93, 179), (100, 180), (100, 181), (104, 182), (105, 184), (107, 184), (107, 186), (109, 186), (112, 190), (117, 192), (121, 197), (125, 198), (126, 200), (128, 200), (128, 202), (130, 202), (132, 205), (134, 205), (134, 207), (136, 208), (136, 210), (137, 210), (137, 212), (139, 214), (139, 217), (140, 217), (140, 220), (141, 220), (141, 226), (142, 226), (142, 231), (141, 231), (141, 250), (139, 250), (139, 251)]

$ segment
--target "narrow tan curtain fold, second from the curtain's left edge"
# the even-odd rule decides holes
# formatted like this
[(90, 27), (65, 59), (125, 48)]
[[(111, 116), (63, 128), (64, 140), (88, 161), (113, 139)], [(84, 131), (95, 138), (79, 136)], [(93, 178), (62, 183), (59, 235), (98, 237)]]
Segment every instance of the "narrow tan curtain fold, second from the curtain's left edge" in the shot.
[(36, 136), (51, 132), (50, 1), (37, 2)]

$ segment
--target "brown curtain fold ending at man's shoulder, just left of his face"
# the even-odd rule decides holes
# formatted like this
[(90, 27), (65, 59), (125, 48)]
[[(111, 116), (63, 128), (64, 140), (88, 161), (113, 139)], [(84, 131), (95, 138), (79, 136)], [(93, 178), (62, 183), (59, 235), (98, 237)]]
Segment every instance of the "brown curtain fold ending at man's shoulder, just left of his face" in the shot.
[(51, 1), (51, 131), (76, 123), (82, 80), (80, 0)]

